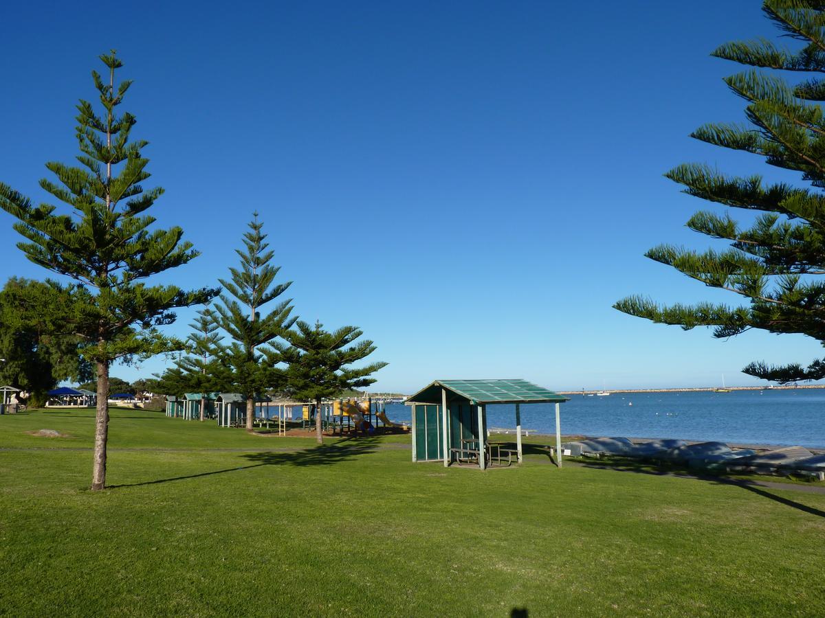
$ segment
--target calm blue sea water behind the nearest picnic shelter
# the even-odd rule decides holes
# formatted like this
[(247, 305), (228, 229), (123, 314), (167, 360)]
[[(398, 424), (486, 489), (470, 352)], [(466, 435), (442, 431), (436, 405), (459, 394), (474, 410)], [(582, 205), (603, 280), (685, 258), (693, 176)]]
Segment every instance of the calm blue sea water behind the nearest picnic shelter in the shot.
[[(515, 427), (515, 410), (489, 405), (489, 426)], [(553, 405), (522, 405), (521, 427), (554, 433), (554, 414)], [(387, 415), (410, 420), (400, 404), (387, 405)], [(562, 433), (590, 436), (825, 447), (825, 389), (573, 395), (561, 405), (561, 422)]]

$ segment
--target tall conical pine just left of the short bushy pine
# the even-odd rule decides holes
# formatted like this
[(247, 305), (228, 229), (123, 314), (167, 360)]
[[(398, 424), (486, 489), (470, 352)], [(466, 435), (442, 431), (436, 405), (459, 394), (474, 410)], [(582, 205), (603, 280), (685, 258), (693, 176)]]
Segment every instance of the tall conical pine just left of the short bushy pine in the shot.
[(236, 250), (240, 269), (230, 268), (231, 279), (219, 279), (225, 293), (220, 295), (222, 304), (215, 306), (221, 328), (232, 339), (220, 361), (231, 368), (231, 386), (247, 400), (248, 431), (252, 431), (255, 419), (255, 396), (283, 386), (283, 372), (271, 360), (270, 344), (295, 322), (290, 317), (291, 298), (277, 302), (262, 315), (262, 307), (285, 293), (292, 282), (275, 283), (281, 267), (270, 264), (275, 252), (267, 250), (269, 243), (261, 232), (263, 223), (258, 222), (258, 213), (253, 217), (248, 224), (250, 231), (243, 235), (246, 250)]

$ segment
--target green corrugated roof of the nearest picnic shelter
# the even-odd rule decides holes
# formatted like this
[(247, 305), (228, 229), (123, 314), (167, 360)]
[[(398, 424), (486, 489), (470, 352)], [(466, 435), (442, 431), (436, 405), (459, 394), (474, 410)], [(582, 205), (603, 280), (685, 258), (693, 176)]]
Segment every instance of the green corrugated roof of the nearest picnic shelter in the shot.
[(469, 400), (473, 404), (562, 403), (569, 397), (549, 391), (526, 380), (436, 380), (422, 388), (407, 402), (441, 404), (441, 389), (453, 393), (448, 399)]

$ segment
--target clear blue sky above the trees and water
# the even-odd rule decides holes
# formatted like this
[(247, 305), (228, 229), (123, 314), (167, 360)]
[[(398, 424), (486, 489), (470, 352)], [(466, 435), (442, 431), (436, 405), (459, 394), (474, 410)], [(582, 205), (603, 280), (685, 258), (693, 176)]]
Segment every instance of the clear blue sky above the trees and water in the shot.
[[(610, 308), (630, 293), (736, 302), (643, 252), (709, 245), (684, 227), (709, 205), (670, 167), (779, 173), (687, 137), (742, 119), (721, 81), (736, 65), (708, 54), (774, 35), (757, 2), (68, 4), (3, 11), (0, 180), (44, 197), (44, 163), (76, 153), (73, 105), (92, 98), (97, 55), (118, 49), (135, 81), (123, 107), (166, 189), (153, 214), (202, 251), (167, 280), (214, 284), (257, 209), (299, 315), (361, 326), (389, 361), (375, 389), (753, 384), (739, 373), (751, 360), (822, 353)], [(11, 227), (2, 213), (0, 275), (45, 277)]]

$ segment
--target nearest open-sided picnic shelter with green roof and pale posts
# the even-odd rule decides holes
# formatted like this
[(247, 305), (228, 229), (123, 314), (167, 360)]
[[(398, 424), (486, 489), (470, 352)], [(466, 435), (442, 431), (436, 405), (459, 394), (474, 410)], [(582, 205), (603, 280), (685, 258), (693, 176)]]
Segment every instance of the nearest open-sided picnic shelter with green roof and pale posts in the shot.
[(436, 380), (405, 402), (413, 409), (413, 461), (444, 461), (449, 466), (474, 454), (484, 470), (493, 458), (487, 439), (487, 405), (515, 404), (516, 457), (521, 463), (521, 405), (554, 403), (560, 466), (559, 404), (568, 400), (526, 380)]

